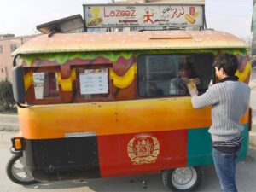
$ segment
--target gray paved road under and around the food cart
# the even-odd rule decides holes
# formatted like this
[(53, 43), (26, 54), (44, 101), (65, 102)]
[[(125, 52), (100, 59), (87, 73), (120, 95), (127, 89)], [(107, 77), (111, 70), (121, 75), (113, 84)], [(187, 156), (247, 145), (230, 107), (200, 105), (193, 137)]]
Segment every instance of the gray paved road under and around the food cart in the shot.
[[(38, 183), (23, 187), (12, 183), (5, 174), (5, 165), (9, 160), (9, 138), (13, 132), (0, 132), (0, 191), (1, 192), (167, 192), (161, 182), (160, 174), (86, 179), (59, 183)], [(203, 167), (203, 181), (198, 192), (220, 191), (218, 178), (213, 166)], [(255, 192), (256, 163), (250, 157), (237, 165), (237, 184), (240, 192)]]

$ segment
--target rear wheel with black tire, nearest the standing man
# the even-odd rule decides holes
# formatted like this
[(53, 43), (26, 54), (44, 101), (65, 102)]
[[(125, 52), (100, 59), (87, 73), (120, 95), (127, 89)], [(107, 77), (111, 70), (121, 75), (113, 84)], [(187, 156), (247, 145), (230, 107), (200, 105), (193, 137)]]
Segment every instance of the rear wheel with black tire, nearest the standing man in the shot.
[(193, 191), (201, 183), (199, 167), (182, 167), (162, 173), (165, 187), (171, 191)]

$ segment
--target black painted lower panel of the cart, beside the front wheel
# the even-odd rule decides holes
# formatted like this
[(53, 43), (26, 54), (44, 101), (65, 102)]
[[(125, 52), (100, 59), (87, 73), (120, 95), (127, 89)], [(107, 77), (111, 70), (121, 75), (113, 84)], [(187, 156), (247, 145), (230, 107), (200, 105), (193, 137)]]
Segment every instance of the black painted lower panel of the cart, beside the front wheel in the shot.
[(26, 139), (27, 174), (51, 182), (100, 177), (96, 137)]

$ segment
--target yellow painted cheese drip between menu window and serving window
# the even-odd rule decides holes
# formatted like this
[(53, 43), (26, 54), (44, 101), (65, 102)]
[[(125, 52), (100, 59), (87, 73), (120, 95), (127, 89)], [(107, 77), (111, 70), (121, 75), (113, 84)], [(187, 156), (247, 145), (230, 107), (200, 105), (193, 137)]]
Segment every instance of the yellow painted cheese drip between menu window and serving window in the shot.
[(114, 86), (124, 89), (128, 87), (134, 79), (136, 74), (136, 64), (132, 65), (131, 68), (125, 73), (124, 76), (120, 77), (113, 72), (113, 68), (110, 68), (110, 79), (113, 79)]

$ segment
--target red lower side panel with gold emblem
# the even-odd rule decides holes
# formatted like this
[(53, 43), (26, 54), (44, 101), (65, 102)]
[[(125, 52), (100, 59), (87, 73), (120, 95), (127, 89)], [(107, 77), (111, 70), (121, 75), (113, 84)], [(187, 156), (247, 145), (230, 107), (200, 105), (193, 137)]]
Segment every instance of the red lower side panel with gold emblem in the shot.
[(186, 166), (187, 130), (98, 137), (101, 177), (161, 172)]

